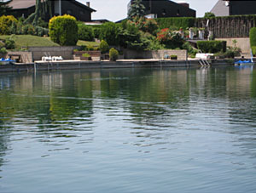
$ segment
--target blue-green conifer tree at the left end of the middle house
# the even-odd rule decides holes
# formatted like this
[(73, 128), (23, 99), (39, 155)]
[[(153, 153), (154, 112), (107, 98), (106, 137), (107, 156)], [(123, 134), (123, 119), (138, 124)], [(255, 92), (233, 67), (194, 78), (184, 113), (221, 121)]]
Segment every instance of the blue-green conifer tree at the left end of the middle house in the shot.
[(142, 0), (135, 0), (131, 3), (131, 8), (128, 11), (128, 19), (133, 20), (136, 17), (143, 17), (145, 15), (145, 6)]

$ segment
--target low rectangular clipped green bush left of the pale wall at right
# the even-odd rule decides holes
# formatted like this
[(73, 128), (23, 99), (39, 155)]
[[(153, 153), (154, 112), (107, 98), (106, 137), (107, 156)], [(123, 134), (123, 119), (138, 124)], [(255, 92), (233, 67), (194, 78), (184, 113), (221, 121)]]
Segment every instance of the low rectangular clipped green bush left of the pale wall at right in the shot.
[(201, 49), (203, 53), (218, 53), (226, 52), (227, 43), (225, 41), (198, 41), (197, 48)]

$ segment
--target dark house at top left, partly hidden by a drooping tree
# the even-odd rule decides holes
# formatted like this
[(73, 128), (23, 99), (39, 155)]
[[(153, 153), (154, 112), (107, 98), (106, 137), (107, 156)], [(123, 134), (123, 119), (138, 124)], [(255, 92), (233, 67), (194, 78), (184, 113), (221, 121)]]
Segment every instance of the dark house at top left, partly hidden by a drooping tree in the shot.
[[(44, 2), (44, 0), (41, 0)], [(70, 14), (77, 20), (91, 21), (91, 13), (96, 10), (90, 8), (90, 3), (86, 5), (79, 3), (76, 0), (51, 0), (49, 1), (51, 13), (53, 15)], [(9, 3), (9, 7), (12, 9), (8, 14), (14, 15), (16, 18), (20, 16), (28, 17), (35, 12), (36, 0), (13, 0)], [(50, 19), (50, 14), (46, 15), (46, 20)]]

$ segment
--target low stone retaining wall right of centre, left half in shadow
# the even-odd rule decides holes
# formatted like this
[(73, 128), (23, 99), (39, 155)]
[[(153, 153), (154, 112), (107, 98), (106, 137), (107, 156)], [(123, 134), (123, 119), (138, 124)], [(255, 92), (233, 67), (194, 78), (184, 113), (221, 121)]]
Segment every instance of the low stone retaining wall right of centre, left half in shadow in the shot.
[(172, 49), (163, 49), (157, 51), (135, 51), (126, 49), (124, 51), (125, 59), (157, 59), (162, 60), (165, 58), (165, 55), (177, 55), (177, 60), (187, 60), (188, 52), (187, 50), (172, 50)]

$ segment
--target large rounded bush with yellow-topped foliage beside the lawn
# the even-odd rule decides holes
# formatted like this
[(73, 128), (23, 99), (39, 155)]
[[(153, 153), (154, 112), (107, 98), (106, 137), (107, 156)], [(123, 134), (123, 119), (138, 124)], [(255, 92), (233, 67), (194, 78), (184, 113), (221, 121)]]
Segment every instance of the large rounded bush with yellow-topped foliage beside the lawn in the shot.
[(61, 46), (74, 46), (79, 40), (78, 25), (71, 15), (53, 17), (49, 20), (49, 37)]

